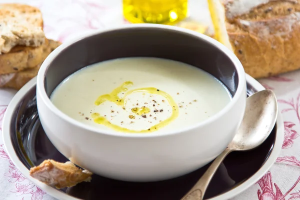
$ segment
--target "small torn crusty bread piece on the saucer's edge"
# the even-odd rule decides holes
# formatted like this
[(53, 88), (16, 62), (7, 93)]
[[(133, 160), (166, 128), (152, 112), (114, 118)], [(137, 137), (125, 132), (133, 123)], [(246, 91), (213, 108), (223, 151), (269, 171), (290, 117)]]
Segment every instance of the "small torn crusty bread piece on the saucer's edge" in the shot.
[(92, 173), (76, 167), (72, 162), (56, 162), (44, 160), (38, 166), (31, 167), (29, 174), (50, 186), (64, 188), (74, 186), (82, 181), (90, 181)]

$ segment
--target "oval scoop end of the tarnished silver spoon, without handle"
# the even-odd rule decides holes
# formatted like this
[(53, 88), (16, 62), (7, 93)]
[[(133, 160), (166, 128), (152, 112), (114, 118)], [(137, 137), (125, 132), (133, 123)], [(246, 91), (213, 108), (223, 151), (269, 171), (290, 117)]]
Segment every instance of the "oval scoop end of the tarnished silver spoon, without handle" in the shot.
[(272, 90), (265, 89), (249, 96), (242, 122), (228, 148), (250, 150), (269, 135), (277, 119), (277, 100)]

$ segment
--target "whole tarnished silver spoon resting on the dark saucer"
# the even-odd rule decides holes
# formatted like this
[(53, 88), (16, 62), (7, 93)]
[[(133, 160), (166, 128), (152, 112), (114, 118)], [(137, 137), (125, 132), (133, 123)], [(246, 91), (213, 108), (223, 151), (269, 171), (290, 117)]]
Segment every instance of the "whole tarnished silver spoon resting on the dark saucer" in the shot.
[(242, 122), (233, 140), (181, 200), (203, 199), (212, 176), (226, 155), (231, 151), (250, 150), (259, 146), (270, 134), (276, 118), (277, 99), (274, 92), (265, 89), (248, 97)]

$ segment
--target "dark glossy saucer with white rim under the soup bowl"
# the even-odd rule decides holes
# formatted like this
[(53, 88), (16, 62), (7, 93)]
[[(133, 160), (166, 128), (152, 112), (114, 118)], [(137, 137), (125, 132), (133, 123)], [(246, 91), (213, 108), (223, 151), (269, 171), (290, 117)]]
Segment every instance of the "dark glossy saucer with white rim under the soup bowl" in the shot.
[[(246, 80), (248, 96), (264, 89), (249, 75), (246, 75)], [(36, 186), (57, 199), (179, 200), (209, 166), (207, 164), (189, 174), (158, 182), (125, 182), (93, 174), (91, 182), (82, 182), (66, 189), (50, 187), (32, 178), (29, 168), (44, 159), (60, 162), (67, 159), (49, 141), (40, 125), (35, 84), (36, 78), (33, 78), (9, 103), (3, 120), (3, 141), (15, 166)], [(278, 113), (276, 125), (259, 147), (246, 152), (231, 152), (224, 159), (213, 176), (204, 199), (228, 199), (253, 185), (275, 161), (283, 136), (283, 121)]]

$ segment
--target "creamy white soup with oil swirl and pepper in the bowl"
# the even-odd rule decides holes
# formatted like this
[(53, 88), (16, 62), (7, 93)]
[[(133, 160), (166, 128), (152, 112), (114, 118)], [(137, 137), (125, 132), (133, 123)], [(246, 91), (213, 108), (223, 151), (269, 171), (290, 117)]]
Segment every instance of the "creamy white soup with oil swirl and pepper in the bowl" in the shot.
[(231, 96), (209, 73), (154, 57), (130, 57), (86, 66), (50, 96), (68, 116), (99, 129), (147, 133), (176, 130), (220, 111)]

